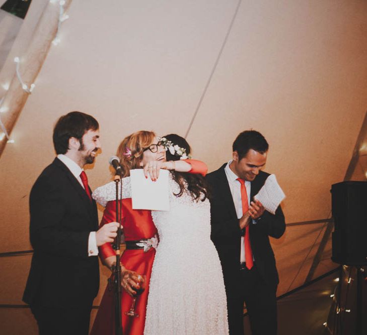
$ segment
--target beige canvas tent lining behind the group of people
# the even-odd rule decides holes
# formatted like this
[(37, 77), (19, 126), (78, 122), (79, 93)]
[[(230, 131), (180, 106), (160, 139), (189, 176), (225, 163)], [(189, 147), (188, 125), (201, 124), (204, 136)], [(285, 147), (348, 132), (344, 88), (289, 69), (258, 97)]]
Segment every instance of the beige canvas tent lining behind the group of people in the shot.
[[(12, 59), (44, 4), (32, 1), (0, 84), (13, 76)], [(108, 159), (134, 131), (188, 133), (194, 158), (212, 171), (231, 158), (237, 134), (252, 128), (270, 144), (265, 171), (287, 196), (286, 222), (330, 217), (331, 184), (345, 176), (367, 108), (367, 3), (242, 0), (235, 15), (238, 4), (71, 3), (61, 43), (51, 47), (12, 132), (15, 143), (0, 159), (0, 253), (31, 249), (29, 192), (54, 157), (55, 121), (71, 110), (100, 123), (102, 153), (87, 171), (93, 189), (110, 180)], [(324, 230), (289, 226), (272, 240), (278, 294), (304, 283)], [(330, 255), (329, 241), (314, 277), (336, 266)], [(10, 281), (0, 303), (21, 304), (30, 259), (0, 259), (0, 279)]]

